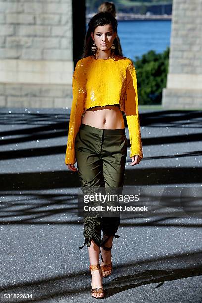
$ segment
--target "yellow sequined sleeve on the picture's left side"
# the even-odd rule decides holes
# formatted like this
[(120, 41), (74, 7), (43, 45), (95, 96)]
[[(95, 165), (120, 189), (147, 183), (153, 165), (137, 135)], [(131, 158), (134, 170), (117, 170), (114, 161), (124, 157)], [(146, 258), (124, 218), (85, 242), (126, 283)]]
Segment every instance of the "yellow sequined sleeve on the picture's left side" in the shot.
[(81, 125), (81, 118), (84, 112), (85, 104), (85, 73), (83, 72), (83, 64), (79, 60), (76, 64), (72, 79), (73, 101), (71, 106), (71, 114), (69, 121), (69, 133), (67, 141), (67, 149), (65, 156), (65, 164), (74, 164), (75, 161), (75, 137)]

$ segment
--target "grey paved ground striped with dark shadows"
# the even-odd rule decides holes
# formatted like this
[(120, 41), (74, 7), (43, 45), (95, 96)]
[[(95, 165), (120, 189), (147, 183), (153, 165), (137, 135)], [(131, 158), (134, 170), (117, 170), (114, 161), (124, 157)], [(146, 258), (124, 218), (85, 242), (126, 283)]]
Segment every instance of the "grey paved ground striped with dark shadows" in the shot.
[[(87, 249), (78, 249), (79, 179), (64, 164), (69, 112), (0, 108), (0, 303), (96, 300)], [(144, 158), (131, 167), (128, 157), (125, 186), (202, 190), (202, 112), (140, 108), (140, 121)], [(103, 302), (202, 302), (196, 207), (197, 214), (173, 207), (173, 214), (122, 218)]]

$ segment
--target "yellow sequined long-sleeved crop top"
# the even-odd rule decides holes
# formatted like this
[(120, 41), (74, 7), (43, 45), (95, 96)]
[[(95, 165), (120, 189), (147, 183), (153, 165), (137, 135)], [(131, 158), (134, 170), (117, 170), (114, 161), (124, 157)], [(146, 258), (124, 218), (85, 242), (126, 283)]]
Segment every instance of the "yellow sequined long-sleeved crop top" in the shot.
[(80, 59), (73, 73), (72, 91), (65, 164), (76, 162), (75, 137), (85, 111), (94, 106), (114, 104), (120, 104), (120, 110), (126, 115), (131, 145), (130, 157), (136, 154), (143, 157), (137, 79), (131, 59), (118, 55), (111, 59), (94, 59), (93, 56)]

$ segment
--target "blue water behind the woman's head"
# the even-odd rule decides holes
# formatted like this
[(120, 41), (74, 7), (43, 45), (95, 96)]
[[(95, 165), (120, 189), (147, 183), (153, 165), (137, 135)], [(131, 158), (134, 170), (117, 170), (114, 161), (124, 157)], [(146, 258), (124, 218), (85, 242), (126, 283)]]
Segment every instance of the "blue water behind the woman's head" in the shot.
[(123, 55), (132, 60), (149, 50), (163, 52), (170, 46), (171, 21), (118, 21)]

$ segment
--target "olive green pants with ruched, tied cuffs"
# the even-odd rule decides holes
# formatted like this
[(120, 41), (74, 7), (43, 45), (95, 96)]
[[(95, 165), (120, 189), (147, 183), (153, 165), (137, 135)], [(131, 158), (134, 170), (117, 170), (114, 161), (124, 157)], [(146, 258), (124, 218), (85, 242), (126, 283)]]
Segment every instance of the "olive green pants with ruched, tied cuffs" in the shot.
[[(121, 194), (124, 184), (127, 156), (127, 138), (123, 129), (100, 129), (81, 124), (75, 138), (75, 157), (81, 190), (84, 194), (93, 194), (99, 188), (105, 188), (106, 194)], [(107, 202), (115, 205), (114, 201)], [(96, 206), (91, 202), (91, 206)], [(99, 217), (95, 214), (84, 216), (84, 245), (89, 247), (91, 239), (102, 246), (103, 235), (118, 238), (115, 235), (120, 224), (120, 216)]]

